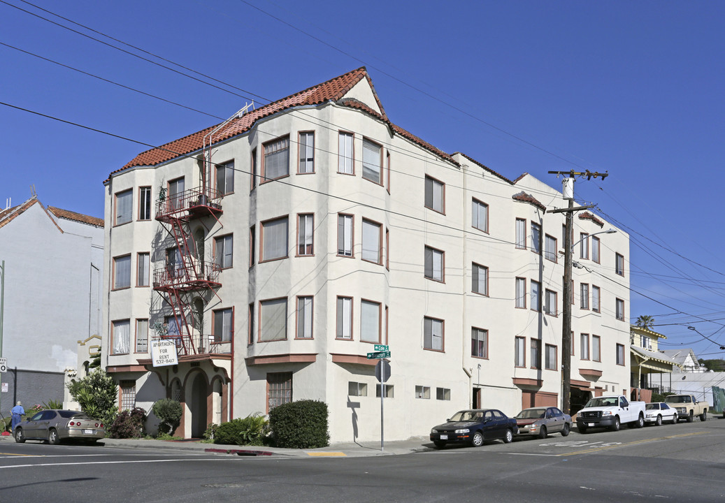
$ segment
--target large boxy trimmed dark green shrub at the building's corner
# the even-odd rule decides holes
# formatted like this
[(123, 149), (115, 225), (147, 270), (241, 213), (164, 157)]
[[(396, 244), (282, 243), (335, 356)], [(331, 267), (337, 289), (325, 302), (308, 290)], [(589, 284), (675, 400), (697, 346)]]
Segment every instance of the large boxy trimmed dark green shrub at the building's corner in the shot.
[(299, 400), (270, 410), (270, 428), (278, 447), (311, 449), (330, 444), (328, 408), (318, 400)]

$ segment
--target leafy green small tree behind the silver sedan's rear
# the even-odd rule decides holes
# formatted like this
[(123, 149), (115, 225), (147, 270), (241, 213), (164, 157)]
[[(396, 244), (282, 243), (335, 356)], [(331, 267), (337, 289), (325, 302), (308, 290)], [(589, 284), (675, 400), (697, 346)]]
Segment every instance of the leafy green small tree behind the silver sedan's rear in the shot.
[(106, 425), (116, 417), (118, 387), (105, 370), (96, 369), (83, 379), (67, 384), (70, 396), (80, 404), (80, 410)]

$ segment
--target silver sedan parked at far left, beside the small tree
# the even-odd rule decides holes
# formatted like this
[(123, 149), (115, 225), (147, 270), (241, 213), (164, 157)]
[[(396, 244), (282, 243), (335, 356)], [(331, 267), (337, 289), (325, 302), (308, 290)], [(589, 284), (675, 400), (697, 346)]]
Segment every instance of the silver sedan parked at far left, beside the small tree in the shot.
[(101, 421), (91, 419), (77, 410), (41, 410), (30, 419), (15, 426), (15, 441), (22, 444), (25, 440), (43, 440), (49, 444), (59, 444), (66, 438), (80, 438), (97, 441), (106, 436)]

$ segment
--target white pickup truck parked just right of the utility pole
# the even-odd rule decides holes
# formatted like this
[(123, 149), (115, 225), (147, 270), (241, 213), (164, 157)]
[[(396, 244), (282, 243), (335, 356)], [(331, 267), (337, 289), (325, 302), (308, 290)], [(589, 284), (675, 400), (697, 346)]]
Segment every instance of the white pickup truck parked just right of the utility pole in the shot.
[(624, 395), (597, 396), (576, 413), (576, 428), (610, 428), (618, 431), (623, 423), (642, 428), (645, 425), (645, 402), (629, 402)]

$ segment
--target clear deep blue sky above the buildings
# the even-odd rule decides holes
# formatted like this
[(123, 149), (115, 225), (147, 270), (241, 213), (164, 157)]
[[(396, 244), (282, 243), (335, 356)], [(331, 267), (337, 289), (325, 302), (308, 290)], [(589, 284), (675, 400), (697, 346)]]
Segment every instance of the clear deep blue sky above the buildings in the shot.
[[(631, 319), (653, 315), (661, 349), (725, 355), (725, 3), (411, 5), (1, 0), (0, 101), (159, 145), (365, 65), (389, 118), (439, 149), (559, 189), (548, 171), (607, 171), (576, 199), (631, 235)], [(102, 217), (103, 180), (148, 147), (12, 107), (2, 207), (33, 185)]]

